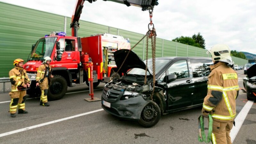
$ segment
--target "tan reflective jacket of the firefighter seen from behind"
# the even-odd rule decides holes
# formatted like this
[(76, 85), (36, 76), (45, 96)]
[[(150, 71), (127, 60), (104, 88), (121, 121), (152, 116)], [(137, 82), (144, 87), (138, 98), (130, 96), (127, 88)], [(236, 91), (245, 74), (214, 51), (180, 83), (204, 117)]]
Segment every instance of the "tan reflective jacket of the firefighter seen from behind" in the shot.
[(232, 121), (236, 116), (239, 92), (237, 73), (221, 61), (210, 68), (212, 72), (208, 76), (208, 92), (202, 112), (210, 112), (216, 121)]

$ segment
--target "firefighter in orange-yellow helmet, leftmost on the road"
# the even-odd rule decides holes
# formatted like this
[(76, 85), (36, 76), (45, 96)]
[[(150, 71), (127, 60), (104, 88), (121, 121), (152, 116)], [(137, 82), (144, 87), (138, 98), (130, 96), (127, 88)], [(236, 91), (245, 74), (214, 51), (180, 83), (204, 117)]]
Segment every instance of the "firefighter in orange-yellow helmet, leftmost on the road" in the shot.
[(9, 93), (11, 97), (10, 103), (10, 113), (11, 117), (16, 117), (16, 110), (18, 108), (18, 114), (26, 114), (28, 113), (25, 110), (25, 101), (27, 98), (26, 88), (30, 87), (30, 80), (28, 78), (27, 72), (23, 69), (22, 59), (16, 59), (13, 61), (13, 65), (15, 66), (10, 70), (9, 77), (12, 83), (11, 92)]

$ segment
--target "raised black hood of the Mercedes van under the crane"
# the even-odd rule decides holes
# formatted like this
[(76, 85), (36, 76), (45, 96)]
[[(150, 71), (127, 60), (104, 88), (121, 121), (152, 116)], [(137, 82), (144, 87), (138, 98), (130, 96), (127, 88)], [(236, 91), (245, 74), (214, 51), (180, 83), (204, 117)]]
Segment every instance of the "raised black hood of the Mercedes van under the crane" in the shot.
[[(116, 66), (119, 69), (126, 57), (126, 55), (129, 53), (129, 49), (120, 49), (114, 53)], [(146, 64), (140, 59), (140, 57), (135, 54), (133, 51), (131, 51), (125, 60), (122, 68), (119, 72), (126, 73), (131, 68), (141, 68), (146, 69)]]

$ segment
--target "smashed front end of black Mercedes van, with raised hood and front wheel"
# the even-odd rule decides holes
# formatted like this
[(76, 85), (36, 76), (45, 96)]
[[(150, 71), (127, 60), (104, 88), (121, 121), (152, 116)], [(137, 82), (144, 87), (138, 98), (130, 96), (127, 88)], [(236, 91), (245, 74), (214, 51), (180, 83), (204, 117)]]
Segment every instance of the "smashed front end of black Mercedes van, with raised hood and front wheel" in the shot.
[[(120, 58), (124, 58), (128, 52), (129, 50), (115, 52), (117, 68), (123, 62)], [(132, 51), (126, 61), (120, 69), (124, 76), (104, 86), (102, 108), (119, 118), (139, 121), (142, 126), (154, 126), (160, 119), (161, 109), (163, 112), (165, 108), (164, 89), (155, 86), (151, 100), (153, 76), (150, 69), (147, 72), (147, 82), (144, 84), (145, 63)], [(144, 76), (142, 73), (129, 73), (128, 70), (131, 68), (144, 69)]]

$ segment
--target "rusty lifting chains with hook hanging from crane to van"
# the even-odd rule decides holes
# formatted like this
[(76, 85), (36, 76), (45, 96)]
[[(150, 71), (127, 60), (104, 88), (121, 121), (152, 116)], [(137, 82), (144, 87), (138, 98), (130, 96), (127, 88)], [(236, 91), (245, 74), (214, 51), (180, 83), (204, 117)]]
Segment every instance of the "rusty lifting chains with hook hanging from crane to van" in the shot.
[[(155, 26), (152, 22), (152, 16), (153, 16), (153, 8), (150, 8), (149, 9), (149, 20), (150, 20), (150, 23), (148, 24), (148, 32), (146, 33), (146, 35), (144, 35), (130, 50), (129, 52), (127, 53), (123, 63), (121, 64), (120, 68), (117, 70), (116, 74), (113, 76), (115, 77), (119, 70), (122, 68), (122, 66), (124, 65), (124, 62), (126, 61), (128, 55), (130, 54), (131, 50), (136, 47), (145, 37), (147, 37), (147, 47), (146, 47), (146, 71), (145, 71), (145, 79), (144, 79), (144, 84), (147, 83), (147, 69), (148, 69), (148, 38), (151, 39), (151, 46), (152, 46), (152, 69), (153, 69), (153, 90), (152, 90), (152, 94), (151, 94), (151, 97), (150, 99), (153, 100), (153, 94), (154, 94), (154, 90), (155, 90), (155, 81), (156, 81), (156, 78), (155, 78), (155, 71), (156, 71), (156, 29), (155, 29)], [(150, 27), (151, 26), (151, 27)], [(113, 79), (112, 77), (112, 79)], [(112, 80), (110, 79), (110, 81)], [(110, 82), (109, 81), (109, 82)], [(108, 83), (109, 83), (108, 82)]]

